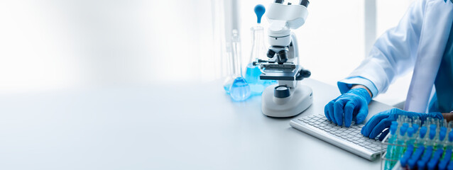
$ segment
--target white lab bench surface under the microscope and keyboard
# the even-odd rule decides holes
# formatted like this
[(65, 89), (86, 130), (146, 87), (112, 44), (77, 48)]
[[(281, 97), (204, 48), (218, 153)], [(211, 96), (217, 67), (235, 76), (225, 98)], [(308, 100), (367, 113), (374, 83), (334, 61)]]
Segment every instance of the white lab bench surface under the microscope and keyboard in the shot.
[[(324, 114), (339, 95), (313, 79)], [(296, 116), (296, 117), (298, 117)], [(0, 169), (379, 169), (268, 118), (261, 96), (232, 102), (221, 81), (0, 96)]]

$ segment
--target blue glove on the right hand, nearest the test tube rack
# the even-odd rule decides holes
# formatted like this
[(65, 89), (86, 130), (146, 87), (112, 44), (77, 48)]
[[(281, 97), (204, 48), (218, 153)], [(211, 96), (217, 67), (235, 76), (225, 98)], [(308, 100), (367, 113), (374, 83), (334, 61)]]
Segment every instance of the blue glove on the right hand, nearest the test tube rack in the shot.
[(392, 108), (391, 110), (383, 111), (381, 113), (373, 115), (373, 117), (364, 125), (364, 128), (362, 128), (361, 134), (366, 137), (375, 138), (382, 132), (382, 130), (390, 127), (392, 121), (395, 121), (398, 118), (398, 115), (419, 117), (420, 120), (422, 120), (422, 123), (428, 118), (428, 116), (432, 118), (444, 119), (442, 114), (438, 112), (426, 114), (403, 111), (398, 108)]

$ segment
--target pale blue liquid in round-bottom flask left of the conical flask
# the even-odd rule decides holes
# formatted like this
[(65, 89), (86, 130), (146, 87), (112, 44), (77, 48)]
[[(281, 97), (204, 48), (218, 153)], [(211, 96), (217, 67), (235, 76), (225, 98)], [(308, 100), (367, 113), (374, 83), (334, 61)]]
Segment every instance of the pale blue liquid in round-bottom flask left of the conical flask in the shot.
[(234, 82), (229, 89), (229, 95), (234, 101), (244, 101), (249, 98), (250, 94), (250, 86), (247, 84), (246, 79), (242, 77), (234, 79)]

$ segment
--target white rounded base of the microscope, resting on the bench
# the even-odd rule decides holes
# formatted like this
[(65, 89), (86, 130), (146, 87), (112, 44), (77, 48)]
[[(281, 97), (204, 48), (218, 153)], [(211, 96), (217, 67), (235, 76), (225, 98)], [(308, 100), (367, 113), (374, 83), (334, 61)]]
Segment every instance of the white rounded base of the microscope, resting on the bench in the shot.
[(310, 86), (300, 85), (290, 90), (286, 98), (274, 97), (274, 88), (278, 84), (268, 86), (262, 94), (261, 111), (264, 115), (275, 118), (287, 118), (299, 115), (313, 103), (313, 91)]

